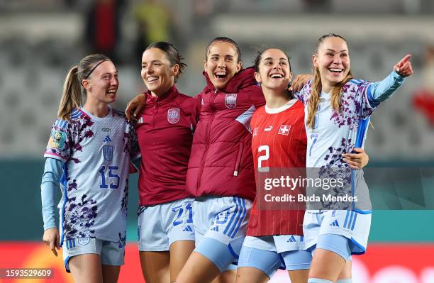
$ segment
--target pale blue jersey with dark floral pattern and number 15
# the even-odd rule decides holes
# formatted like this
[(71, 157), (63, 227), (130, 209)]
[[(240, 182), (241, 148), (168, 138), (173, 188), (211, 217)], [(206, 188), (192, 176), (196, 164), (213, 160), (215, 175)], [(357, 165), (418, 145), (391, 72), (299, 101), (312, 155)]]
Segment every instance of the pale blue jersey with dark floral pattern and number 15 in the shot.
[(60, 243), (90, 237), (125, 244), (130, 158), (138, 156), (134, 128), (120, 111), (99, 118), (80, 108), (70, 122), (57, 119), (44, 157), (65, 162)]

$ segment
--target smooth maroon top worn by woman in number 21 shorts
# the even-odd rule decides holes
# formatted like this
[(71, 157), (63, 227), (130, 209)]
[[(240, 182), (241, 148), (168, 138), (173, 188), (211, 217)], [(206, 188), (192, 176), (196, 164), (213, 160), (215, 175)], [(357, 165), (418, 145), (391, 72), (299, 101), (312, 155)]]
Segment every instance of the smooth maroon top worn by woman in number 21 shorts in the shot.
[(200, 103), (173, 86), (162, 97), (148, 91), (136, 133), (142, 162), (140, 205), (163, 204), (191, 196), (185, 179)]

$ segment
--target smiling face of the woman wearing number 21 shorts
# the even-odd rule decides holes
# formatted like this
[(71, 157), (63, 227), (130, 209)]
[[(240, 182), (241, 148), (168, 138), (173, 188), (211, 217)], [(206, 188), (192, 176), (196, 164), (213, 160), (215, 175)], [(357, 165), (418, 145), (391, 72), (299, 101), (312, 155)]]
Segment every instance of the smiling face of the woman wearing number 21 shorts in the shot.
[(165, 94), (174, 84), (174, 77), (179, 72), (179, 65), (170, 66), (165, 52), (159, 48), (150, 48), (143, 52), (143, 82), (153, 96)]

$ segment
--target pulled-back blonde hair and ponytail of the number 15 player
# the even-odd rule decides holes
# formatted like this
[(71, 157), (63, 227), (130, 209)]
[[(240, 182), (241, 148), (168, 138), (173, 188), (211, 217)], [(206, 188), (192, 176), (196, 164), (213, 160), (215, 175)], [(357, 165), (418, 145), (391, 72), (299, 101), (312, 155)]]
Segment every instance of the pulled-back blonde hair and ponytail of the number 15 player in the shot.
[(87, 79), (97, 65), (107, 60), (111, 61), (106, 55), (88, 55), (79, 62), (79, 65), (69, 70), (63, 84), (57, 118), (70, 121), (69, 116), (72, 111), (82, 105), (82, 80)]

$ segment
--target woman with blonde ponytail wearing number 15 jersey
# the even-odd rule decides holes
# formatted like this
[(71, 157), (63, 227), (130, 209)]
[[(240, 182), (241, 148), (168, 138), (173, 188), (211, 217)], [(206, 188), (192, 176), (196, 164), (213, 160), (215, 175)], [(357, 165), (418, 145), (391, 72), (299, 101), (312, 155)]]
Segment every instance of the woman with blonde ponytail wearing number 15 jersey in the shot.
[(55, 256), (62, 247), (75, 282), (117, 282), (123, 265), (128, 170), (139, 155), (133, 127), (110, 106), (118, 86), (109, 57), (89, 55), (72, 67), (44, 154), (43, 241)]

